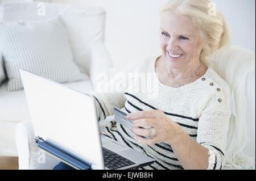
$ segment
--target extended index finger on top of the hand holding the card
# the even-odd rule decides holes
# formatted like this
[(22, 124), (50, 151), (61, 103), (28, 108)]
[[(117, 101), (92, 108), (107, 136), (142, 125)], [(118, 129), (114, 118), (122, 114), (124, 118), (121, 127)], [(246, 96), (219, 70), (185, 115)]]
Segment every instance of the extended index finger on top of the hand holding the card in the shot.
[(155, 118), (160, 115), (163, 115), (163, 111), (159, 111), (159, 110), (138, 111), (138, 112), (129, 113), (126, 116), (126, 118), (134, 120), (134, 119), (141, 119), (141, 118)]

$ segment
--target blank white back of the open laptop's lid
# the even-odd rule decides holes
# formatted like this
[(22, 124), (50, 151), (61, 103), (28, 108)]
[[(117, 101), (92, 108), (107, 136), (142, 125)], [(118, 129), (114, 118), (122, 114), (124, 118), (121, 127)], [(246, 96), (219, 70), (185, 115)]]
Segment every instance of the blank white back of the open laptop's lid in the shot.
[(28, 71), (20, 75), (35, 136), (104, 169), (94, 99)]

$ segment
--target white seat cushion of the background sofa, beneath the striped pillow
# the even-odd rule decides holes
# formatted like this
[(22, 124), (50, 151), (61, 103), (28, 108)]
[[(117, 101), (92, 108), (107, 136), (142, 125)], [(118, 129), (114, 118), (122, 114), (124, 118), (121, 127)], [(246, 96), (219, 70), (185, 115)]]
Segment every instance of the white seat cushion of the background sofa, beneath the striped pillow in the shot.
[[(71, 82), (64, 85), (83, 93), (93, 91), (90, 81)], [(6, 87), (6, 82), (0, 87), (0, 122), (30, 120), (24, 90), (9, 92)]]

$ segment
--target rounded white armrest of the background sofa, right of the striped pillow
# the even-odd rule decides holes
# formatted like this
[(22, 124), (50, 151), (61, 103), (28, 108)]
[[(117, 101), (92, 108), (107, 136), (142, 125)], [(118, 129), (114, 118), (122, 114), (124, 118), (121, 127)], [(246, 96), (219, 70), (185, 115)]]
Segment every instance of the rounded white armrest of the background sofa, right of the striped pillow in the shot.
[(104, 73), (109, 77), (110, 69), (113, 68), (113, 64), (103, 41), (97, 41), (92, 44), (90, 57), (90, 81), (92, 82), (94, 91), (98, 91), (98, 75), (102, 75), (102, 73)]

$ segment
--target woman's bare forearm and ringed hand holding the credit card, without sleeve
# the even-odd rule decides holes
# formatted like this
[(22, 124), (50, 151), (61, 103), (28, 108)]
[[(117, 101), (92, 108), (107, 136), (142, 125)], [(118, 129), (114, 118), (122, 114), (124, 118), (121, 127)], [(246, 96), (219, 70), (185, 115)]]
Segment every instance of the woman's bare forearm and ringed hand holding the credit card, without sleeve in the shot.
[[(207, 169), (209, 150), (193, 140), (179, 124), (164, 115), (162, 111), (135, 112), (130, 113), (127, 118), (134, 120), (132, 131), (137, 134), (135, 140), (146, 145), (167, 141), (184, 169)], [(142, 137), (151, 136), (150, 129), (138, 128), (146, 126), (154, 128), (153, 138)]]

